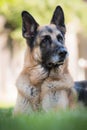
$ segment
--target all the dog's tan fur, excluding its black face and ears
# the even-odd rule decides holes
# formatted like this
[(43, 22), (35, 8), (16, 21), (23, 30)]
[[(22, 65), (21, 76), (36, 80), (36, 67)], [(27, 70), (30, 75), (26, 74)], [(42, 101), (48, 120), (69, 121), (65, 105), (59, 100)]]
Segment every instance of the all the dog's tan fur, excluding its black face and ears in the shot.
[[(14, 108), (14, 114), (26, 113), (42, 109), (49, 111), (51, 109), (72, 108), (75, 104), (74, 83), (68, 71), (68, 59), (58, 69), (52, 69), (50, 73), (41, 66), (40, 41), (43, 35), (50, 35), (52, 39), (60, 33), (55, 25), (49, 25), (54, 31), (48, 34), (43, 27), (38, 30), (33, 51), (27, 46), (24, 58), (24, 67), (20, 73), (16, 86), (18, 90), (17, 101)], [(57, 31), (56, 31), (57, 30)], [(54, 48), (54, 47), (53, 47)]]

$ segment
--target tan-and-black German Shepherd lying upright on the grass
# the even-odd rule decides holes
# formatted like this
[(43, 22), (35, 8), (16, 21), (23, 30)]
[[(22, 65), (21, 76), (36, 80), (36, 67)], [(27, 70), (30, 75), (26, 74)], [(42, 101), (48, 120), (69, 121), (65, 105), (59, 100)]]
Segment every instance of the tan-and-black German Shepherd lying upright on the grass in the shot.
[(27, 42), (24, 67), (17, 79), (14, 113), (72, 108), (76, 91), (68, 71), (64, 12), (57, 6), (49, 25), (40, 26), (22, 12), (22, 34)]

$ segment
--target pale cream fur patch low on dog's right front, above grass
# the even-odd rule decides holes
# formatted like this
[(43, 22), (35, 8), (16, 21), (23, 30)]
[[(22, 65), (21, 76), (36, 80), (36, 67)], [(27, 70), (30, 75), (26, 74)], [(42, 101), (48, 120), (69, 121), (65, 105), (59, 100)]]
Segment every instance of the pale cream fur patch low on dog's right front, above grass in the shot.
[(64, 90), (50, 91), (46, 93), (42, 100), (42, 108), (45, 111), (49, 111), (52, 108), (58, 110), (58, 108), (66, 108), (68, 106), (67, 93)]

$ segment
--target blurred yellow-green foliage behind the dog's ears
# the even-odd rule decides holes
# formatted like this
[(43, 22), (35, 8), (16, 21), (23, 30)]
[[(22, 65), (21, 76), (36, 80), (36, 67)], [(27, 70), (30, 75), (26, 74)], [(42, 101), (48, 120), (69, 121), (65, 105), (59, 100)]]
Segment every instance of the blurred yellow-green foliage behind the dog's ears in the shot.
[(87, 28), (87, 3), (83, 0), (0, 0), (0, 14), (6, 17), (6, 27), (12, 30), (11, 37), (20, 39), (21, 12), (29, 11), (40, 24), (49, 23), (53, 11), (61, 5), (66, 23), (78, 18), (84, 30)]

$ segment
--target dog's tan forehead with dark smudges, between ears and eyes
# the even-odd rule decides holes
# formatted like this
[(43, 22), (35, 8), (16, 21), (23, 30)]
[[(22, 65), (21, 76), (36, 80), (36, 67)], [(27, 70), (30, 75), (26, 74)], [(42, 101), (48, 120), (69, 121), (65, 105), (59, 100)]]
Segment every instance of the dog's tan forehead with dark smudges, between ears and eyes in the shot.
[(61, 34), (61, 32), (60, 30), (58, 30), (58, 28), (54, 24), (50, 24), (50, 25), (45, 25), (45, 26), (39, 26), (38, 34), (40, 36), (52, 35), (52, 34), (58, 35), (58, 34)]

